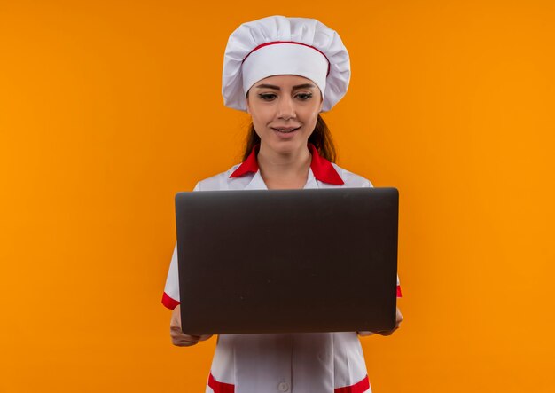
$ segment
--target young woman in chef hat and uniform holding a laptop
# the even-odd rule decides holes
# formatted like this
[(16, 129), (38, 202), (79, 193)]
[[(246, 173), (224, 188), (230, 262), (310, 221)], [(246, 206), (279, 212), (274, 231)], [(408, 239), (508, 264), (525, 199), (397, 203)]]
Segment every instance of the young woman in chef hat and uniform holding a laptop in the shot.
[[(200, 181), (195, 191), (371, 187), (332, 163), (332, 137), (320, 116), (343, 97), (349, 78), (348, 52), (339, 35), (317, 20), (275, 16), (241, 25), (225, 51), (223, 98), (226, 106), (252, 117), (244, 161)], [(175, 250), (162, 299), (173, 309), (172, 340), (191, 346), (209, 338), (183, 334), (178, 299)], [(395, 329), (402, 320), (397, 310)], [(356, 332), (222, 334), (206, 391), (362, 393), (371, 388)]]

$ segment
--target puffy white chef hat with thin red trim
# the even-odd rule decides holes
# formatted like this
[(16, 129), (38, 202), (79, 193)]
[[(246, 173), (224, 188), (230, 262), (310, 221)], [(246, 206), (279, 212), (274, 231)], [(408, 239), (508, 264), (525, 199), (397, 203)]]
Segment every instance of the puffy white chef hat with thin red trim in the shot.
[(340, 36), (317, 20), (270, 16), (243, 23), (223, 57), (223, 103), (246, 111), (246, 92), (271, 75), (301, 75), (316, 83), (329, 111), (347, 92), (348, 51)]

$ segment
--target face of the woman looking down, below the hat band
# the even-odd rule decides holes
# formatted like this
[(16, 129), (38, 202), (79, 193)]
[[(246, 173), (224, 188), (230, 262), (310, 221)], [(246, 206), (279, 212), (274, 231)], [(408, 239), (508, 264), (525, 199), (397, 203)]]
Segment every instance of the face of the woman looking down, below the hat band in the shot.
[(246, 97), (246, 110), (262, 145), (276, 153), (306, 148), (322, 105), (316, 83), (298, 75), (264, 78)]

